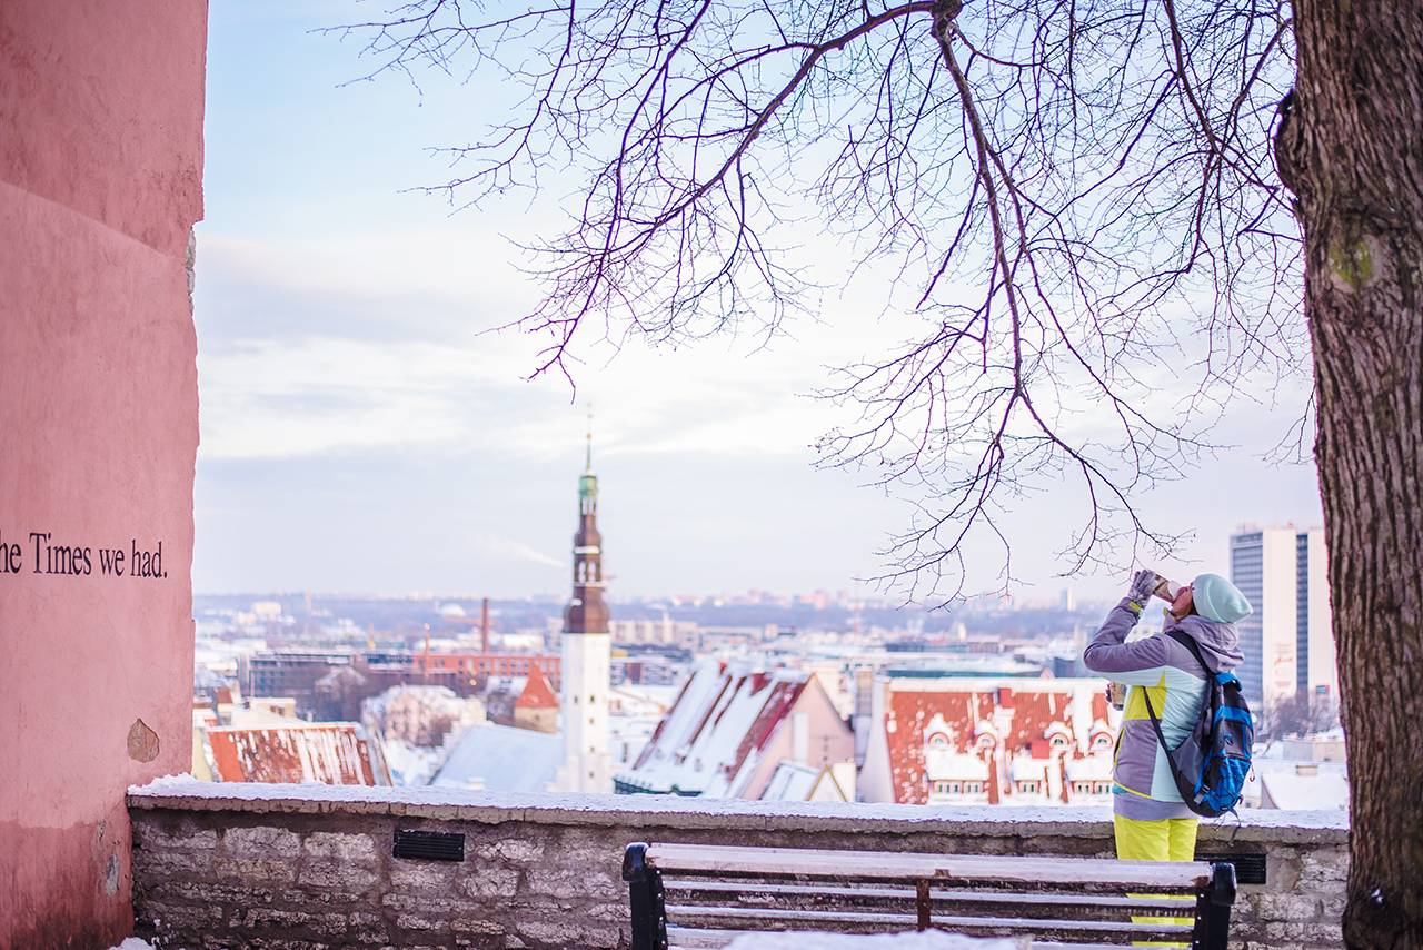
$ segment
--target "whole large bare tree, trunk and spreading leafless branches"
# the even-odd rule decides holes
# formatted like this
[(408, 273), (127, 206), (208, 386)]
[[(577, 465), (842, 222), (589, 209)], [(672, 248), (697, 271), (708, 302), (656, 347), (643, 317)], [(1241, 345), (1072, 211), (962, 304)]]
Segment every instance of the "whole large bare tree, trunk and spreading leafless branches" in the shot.
[(1170, 548), (1134, 499), (1312, 356), (1345, 933), (1423, 944), (1423, 4), (411, 0), (346, 30), (373, 75), (527, 91), (438, 189), (576, 182), (515, 323), (536, 373), (589, 333), (776, 329), (815, 306), (788, 245), (818, 234), (854, 238), (848, 279), (888, 269), (916, 333), (835, 377), (858, 422), (821, 449), (919, 501), (888, 551), (911, 594), (958, 591), (972, 537), (1006, 560), (1005, 506), (1043, 484), (1086, 499), (1070, 568)]

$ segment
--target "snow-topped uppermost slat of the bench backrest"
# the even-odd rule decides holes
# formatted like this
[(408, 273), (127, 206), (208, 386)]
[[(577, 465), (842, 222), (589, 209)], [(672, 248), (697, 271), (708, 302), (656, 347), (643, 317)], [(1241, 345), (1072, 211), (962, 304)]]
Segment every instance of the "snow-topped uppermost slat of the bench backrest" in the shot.
[(999, 857), (899, 852), (649, 845), (647, 863), (665, 872), (795, 875), (805, 877), (961, 879), (1074, 887), (1198, 889), (1211, 880), (1204, 862), (1130, 862), (1097, 857)]

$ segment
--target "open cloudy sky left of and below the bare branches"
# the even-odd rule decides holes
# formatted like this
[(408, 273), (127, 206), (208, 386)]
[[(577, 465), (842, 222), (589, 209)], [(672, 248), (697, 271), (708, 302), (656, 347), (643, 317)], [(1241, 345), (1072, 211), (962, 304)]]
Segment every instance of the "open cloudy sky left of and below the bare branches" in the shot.
[[(564, 593), (589, 410), (615, 600), (869, 590), (857, 578), (885, 568), (909, 511), (814, 467), (813, 443), (847, 417), (808, 395), (825, 366), (899, 338), (871, 316), (875, 288), (768, 345), (630, 340), (585, 350), (576, 392), (529, 380), (536, 340), (487, 330), (536, 301), (514, 242), (552, 216), (515, 199), (453, 214), (408, 191), (443, 182), (430, 150), (467, 141), (507, 95), (353, 81), (359, 44), (313, 31), (351, 9), (211, 4), (195, 590)], [(1289, 410), (1242, 400), (1220, 430), (1234, 447), (1138, 496), (1153, 524), (1194, 536), (1153, 567), (1227, 573), (1235, 527), (1319, 523), (1313, 467), (1264, 459)], [(1015, 594), (1124, 587), (1130, 565), (1059, 577), (1081, 500), (1035, 489), (1006, 520)], [(969, 554), (992, 585), (996, 553)]]

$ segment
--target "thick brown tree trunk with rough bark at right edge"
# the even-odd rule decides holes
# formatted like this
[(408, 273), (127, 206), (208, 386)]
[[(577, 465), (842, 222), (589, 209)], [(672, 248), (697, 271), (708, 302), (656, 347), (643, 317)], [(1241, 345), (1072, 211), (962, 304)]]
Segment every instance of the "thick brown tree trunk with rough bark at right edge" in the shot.
[(1423, 947), (1423, 0), (1298, 0), (1278, 134), (1305, 231), (1350, 947)]

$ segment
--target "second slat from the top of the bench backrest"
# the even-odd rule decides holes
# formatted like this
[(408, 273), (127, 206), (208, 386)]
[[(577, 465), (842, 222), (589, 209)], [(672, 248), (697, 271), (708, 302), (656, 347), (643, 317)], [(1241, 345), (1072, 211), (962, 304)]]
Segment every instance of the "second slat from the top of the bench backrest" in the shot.
[[(854, 887), (837, 884), (776, 884), (751, 880), (690, 880), (686, 877), (667, 877), (663, 880), (667, 893), (726, 893), (744, 897), (756, 894), (785, 896), (785, 897), (848, 897), (864, 900), (914, 900), (914, 887)], [(1191, 916), (1195, 907), (1188, 903), (1194, 897), (1121, 897), (1114, 894), (1091, 893), (1022, 893), (1010, 890), (952, 890), (933, 887), (929, 890), (931, 900), (952, 903), (990, 903), (990, 904), (1023, 904), (1044, 907), (1086, 907), (1113, 910), (1170, 910), (1178, 917)]]

